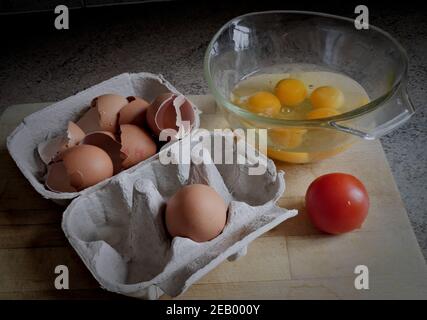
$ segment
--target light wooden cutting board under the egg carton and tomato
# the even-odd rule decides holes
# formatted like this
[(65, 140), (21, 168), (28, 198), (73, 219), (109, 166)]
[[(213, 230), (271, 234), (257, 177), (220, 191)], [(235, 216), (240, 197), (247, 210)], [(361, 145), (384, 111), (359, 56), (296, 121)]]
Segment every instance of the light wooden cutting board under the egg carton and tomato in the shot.
[[(201, 126), (224, 124), (210, 96), (190, 96)], [(0, 299), (115, 299), (99, 288), (66, 241), (59, 207), (37, 194), (5, 148), (9, 132), (46, 103), (9, 107), (0, 118)], [(224, 262), (179, 299), (427, 298), (427, 268), (380, 142), (362, 141), (323, 162), (276, 163), (285, 171), (280, 205), (299, 215), (255, 240), (248, 254)], [(356, 175), (371, 208), (363, 228), (340, 236), (318, 232), (304, 211), (310, 182), (329, 172)], [(70, 290), (55, 290), (54, 269), (69, 268)], [(369, 290), (357, 290), (357, 265), (369, 270)], [(168, 298), (166, 296), (162, 298)]]

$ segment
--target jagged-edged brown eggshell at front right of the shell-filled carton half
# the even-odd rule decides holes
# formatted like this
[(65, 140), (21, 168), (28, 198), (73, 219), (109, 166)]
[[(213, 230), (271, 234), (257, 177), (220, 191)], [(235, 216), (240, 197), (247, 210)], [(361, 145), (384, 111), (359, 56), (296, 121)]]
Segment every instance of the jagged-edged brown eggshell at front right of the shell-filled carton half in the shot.
[(157, 152), (157, 146), (150, 135), (140, 127), (133, 124), (120, 126), (121, 151), (127, 156), (122, 162), (127, 169), (151, 157)]

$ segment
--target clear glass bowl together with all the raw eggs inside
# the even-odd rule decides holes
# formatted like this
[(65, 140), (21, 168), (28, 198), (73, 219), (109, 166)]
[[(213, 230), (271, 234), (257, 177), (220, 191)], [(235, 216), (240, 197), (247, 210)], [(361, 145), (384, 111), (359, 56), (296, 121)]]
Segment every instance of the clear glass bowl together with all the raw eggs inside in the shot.
[(234, 18), (213, 37), (204, 69), (231, 128), (267, 129), (271, 158), (307, 163), (375, 139), (414, 113), (407, 57), (383, 30), (302, 11)]

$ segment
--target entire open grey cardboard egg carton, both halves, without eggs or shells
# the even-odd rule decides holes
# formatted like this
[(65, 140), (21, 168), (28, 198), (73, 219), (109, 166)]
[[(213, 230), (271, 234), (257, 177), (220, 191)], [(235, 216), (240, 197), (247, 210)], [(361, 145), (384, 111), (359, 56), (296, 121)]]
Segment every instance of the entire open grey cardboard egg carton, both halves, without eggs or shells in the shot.
[[(297, 214), (276, 205), (285, 189), (283, 172), (276, 172), (274, 163), (261, 154), (256, 159), (247, 157), (257, 152), (240, 136), (209, 133), (224, 139), (221, 152), (246, 159), (242, 164), (209, 161), (215, 144), (203, 146), (198, 164), (161, 161), (165, 155), (171, 159), (189, 155), (198, 144), (199, 110), (192, 104), (191, 134), (169, 142), (150, 158), (78, 192), (54, 192), (45, 186), (47, 166), (39, 146), (64, 134), (69, 121), (81, 119), (93, 98), (113, 93), (153, 101), (168, 92), (182, 96), (160, 75), (121, 74), (26, 117), (7, 139), (12, 158), (36, 191), (69, 204), (63, 231), (100, 285), (145, 299), (157, 299), (163, 293), (179, 295), (225, 259), (244, 255), (256, 237)], [(251, 175), (261, 158), (266, 170)], [(172, 239), (164, 223), (167, 200), (182, 186), (194, 183), (213, 187), (228, 206), (222, 233), (200, 243)]]

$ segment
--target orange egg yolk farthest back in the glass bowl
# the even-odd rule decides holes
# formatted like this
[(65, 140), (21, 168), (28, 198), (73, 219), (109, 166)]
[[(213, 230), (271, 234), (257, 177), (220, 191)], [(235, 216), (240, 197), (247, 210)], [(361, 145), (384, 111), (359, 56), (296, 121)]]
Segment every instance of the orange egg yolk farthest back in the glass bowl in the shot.
[(280, 80), (274, 89), (281, 104), (286, 107), (295, 107), (307, 97), (307, 89), (304, 83), (298, 79)]

